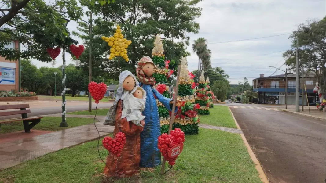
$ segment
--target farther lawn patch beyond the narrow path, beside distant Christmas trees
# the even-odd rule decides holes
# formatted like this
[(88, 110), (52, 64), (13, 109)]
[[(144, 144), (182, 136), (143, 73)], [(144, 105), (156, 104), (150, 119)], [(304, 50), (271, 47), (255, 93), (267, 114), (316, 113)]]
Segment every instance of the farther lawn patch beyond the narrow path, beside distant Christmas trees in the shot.
[(214, 106), (209, 115), (199, 115), (201, 124), (237, 128), (228, 106)]

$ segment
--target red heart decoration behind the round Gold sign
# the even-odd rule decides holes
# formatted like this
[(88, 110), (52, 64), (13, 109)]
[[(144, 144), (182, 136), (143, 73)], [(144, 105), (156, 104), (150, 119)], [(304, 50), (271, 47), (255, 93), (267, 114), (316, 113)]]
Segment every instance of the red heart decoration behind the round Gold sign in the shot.
[(185, 142), (185, 133), (180, 128), (175, 128), (171, 131), (170, 134), (162, 134), (158, 137), (158, 148), (162, 153), (162, 156), (165, 158), (166, 161), (169, 162), (170, 165), (175, 165), (175, 158), (170, 158), (168, 153), (171, 148), (178, 144), (182, 144)]

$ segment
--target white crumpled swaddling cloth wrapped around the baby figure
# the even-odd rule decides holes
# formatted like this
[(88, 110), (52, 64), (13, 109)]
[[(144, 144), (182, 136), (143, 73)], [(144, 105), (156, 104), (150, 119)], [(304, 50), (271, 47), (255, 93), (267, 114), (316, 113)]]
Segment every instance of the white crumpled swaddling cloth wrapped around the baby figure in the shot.
[[(142, 91), (142, 98), (137, 98), (133, 94), (135, 91)], [(142, 126), (140, 121), (145, 118), (141, 113), (145, 109), (146, 103), (146, 91), (141, 87), (136, 86), (130, 94), (124, 97), (122, 100), (122, 116), (121, 118), (127, 118), (127, 121), (132, 121), (137, 126)]]

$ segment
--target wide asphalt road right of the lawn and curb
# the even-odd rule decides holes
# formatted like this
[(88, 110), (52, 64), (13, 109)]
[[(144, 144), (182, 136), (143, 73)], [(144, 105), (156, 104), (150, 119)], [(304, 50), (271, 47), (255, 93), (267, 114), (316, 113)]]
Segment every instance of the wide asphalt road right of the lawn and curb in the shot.
[(270, 182), (325, 182), (325, 121), (274, 110), (231, 111)]

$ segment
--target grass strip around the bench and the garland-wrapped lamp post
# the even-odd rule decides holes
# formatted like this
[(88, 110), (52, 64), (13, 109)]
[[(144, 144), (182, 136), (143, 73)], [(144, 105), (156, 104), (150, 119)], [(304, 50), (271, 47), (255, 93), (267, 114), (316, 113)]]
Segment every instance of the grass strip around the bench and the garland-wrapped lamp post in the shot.
[[(72, 128), (76, 126), (82, 126), (85, 124), (90, 124), (93, 122), (92, 118), (67, 118), (67, 123), (69, 127), (59, 127), (60, 122), (62, 121), (61, 117), (44, 117), (41, 119), (36, 126), (32, 129), (34, 130), (46, 130), (46, 131), (58, 131), (67, 128)], [(9, 132), (17, 132), (24, 130), (23, 124), (21, 121), (1, 124), (0, 134), (6, 134)]]

